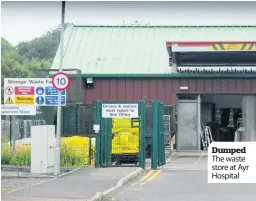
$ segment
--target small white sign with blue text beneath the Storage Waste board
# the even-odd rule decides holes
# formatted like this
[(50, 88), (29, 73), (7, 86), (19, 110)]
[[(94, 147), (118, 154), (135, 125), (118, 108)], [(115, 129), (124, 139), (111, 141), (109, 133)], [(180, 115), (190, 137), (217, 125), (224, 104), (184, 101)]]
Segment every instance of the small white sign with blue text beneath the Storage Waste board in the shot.
[(36, 115), (36, 106), (1, 105), (1, 115)]

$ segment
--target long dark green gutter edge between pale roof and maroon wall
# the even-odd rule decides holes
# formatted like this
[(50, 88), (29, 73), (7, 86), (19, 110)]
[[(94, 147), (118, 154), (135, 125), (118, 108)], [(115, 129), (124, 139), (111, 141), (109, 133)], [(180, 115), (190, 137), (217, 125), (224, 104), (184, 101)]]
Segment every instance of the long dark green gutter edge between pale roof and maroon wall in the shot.
[(256, 73), (241, 74), (201, 74), (201, 73), (171, 73), (171, 74), (70, 74), (81, 78), (256, 78)]

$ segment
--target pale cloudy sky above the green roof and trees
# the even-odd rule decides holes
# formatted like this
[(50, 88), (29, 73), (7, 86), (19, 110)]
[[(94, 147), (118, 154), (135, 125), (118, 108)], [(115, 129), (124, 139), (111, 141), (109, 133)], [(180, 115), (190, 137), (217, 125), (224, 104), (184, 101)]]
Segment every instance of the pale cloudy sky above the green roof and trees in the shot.
[[(66, 2), (79, 25), (256, 25), (256, 2)], [(60, 24), (61, 2), (2, 2), (1, 35), (13, 45)], [(256, 37), (256, 36), (255, 36)]]

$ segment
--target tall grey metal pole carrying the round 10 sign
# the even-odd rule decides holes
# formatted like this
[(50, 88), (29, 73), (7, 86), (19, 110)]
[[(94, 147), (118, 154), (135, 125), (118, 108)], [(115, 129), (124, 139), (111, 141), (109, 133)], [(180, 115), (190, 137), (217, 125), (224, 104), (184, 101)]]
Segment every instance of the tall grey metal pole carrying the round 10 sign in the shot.
[[(64, 46), (64, 29), (65, 29), (64, 26), (65, 26), (65, 1), (62, 1), (59, 72), (61, 72), (63, 69), (63, 46)], [(61, 91), (58, 91), (57, 129), (56, 130), (57, 130), (57, 135), (56, 135), (55, 169), (54, 169), (55, 176), (60, 174)]]

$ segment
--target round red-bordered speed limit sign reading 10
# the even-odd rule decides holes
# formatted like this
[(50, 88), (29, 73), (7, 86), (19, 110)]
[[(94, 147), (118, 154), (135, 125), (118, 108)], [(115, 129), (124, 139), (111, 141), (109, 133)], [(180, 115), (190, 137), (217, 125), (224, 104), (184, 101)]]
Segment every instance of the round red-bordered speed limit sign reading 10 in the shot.
[(70, 85), (70, 77), (68, 74), (59, 72), (52, 77), (52, 85), (57, 90), (65, 90)]

